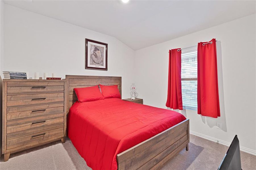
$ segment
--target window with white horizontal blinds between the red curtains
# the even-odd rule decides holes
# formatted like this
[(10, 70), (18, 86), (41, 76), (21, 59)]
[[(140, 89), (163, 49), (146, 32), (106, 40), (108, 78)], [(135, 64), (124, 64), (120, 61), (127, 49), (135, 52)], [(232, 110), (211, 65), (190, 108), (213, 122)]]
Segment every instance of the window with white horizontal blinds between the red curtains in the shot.
[(184, 49), (181, 52), (183, 108), (197, 110), (197, 46)]

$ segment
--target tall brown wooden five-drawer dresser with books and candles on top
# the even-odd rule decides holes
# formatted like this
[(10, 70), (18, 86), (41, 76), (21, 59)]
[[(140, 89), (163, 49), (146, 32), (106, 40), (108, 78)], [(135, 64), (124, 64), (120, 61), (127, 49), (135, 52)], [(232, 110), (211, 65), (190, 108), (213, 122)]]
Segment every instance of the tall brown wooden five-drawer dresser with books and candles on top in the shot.
[(4, 161), (10, 153), (66, 136), (65, 80), (3, 79)]

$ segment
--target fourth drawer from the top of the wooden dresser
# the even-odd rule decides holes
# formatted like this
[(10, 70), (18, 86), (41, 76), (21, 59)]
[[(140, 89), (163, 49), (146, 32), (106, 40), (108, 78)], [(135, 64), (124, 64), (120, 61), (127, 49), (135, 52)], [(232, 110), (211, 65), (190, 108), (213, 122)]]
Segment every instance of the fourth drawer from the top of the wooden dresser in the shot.
[(7, 122), (7, 134), (64, 122), (64, 113)]

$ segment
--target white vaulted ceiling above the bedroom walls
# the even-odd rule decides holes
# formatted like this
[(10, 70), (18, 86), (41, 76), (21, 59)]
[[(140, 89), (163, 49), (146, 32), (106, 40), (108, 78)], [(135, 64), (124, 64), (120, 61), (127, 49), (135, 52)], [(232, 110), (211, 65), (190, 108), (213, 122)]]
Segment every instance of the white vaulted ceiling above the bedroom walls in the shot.
[(256, 1), (4, 1), (116, 37), (134, 50), (255, 13)]

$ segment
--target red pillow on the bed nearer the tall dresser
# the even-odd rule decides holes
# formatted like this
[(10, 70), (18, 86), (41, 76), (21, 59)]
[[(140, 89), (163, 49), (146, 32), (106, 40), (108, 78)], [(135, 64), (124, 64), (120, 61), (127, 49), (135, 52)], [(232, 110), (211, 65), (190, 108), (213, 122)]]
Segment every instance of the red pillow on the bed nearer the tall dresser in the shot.
[(74, 88), (74, 90), (79, 102), (104, 99), (98, 86)]

